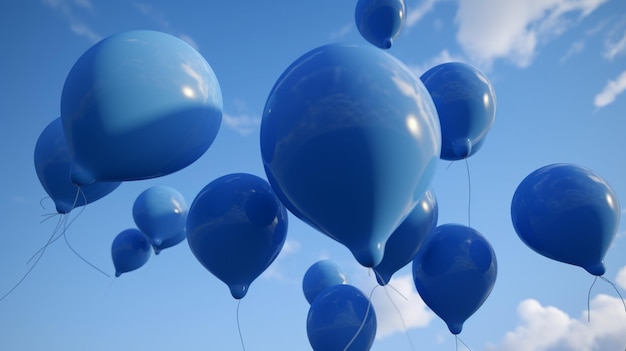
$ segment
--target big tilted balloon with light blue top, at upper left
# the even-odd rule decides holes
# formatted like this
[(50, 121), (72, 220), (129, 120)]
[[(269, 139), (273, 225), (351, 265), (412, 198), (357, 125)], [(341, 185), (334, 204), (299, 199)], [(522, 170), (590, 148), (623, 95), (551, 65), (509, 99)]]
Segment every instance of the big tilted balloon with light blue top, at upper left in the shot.
[(169, 34), (137, 30), (87, 50), (67, 75), (61, 117), (75, 183), (159, 177), (202, 156), (222, 120), (206, 60)]

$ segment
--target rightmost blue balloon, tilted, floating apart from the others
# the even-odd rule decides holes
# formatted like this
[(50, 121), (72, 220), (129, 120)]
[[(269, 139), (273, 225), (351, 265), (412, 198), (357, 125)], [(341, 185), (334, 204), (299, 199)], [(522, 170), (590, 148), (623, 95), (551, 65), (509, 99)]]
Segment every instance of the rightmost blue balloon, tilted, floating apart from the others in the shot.
[(517, 235), (531, 249), (600, 276), (617, 233), (620, 205), (609, 184), (574, 164), (551, 164), (529, 174), (511, 203)]

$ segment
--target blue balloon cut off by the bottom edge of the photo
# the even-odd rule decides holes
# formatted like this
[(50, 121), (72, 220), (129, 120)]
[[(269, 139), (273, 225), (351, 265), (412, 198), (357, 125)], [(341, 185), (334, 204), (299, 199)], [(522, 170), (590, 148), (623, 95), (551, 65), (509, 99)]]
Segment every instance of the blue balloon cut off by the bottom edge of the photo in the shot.
[(367, 351), (374, 344), (376, 327), (369, 299), (354, 286), (343, 284), (322, 291), (309, 307), (306, 321), (314, 351)]

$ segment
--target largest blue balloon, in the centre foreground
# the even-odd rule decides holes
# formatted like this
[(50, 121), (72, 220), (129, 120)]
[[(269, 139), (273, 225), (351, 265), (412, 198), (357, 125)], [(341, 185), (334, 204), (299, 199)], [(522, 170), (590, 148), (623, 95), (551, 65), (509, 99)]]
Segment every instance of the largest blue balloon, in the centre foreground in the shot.
[(402, 62), (372, 46), (329, 44), (279, 77), (261, 154), (293, 214), (365, 267), (430, 185), (441, 134), (435, 107)]

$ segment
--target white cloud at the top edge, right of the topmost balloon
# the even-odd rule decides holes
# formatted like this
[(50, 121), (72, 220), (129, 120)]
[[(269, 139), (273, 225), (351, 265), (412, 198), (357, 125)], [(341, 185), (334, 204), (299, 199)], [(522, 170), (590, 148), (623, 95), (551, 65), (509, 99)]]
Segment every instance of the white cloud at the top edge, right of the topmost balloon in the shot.
[(489, 66), (507, 59), (532, 62), (540, 43), (586, 17), (606, 0), (460, 0), (457, 40), (472, 61)]

